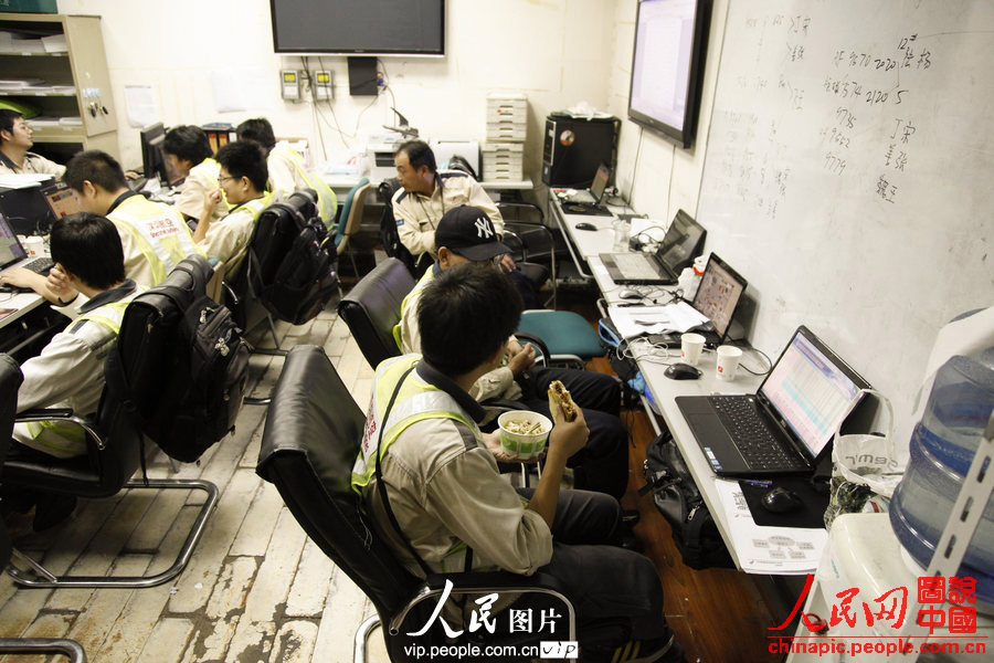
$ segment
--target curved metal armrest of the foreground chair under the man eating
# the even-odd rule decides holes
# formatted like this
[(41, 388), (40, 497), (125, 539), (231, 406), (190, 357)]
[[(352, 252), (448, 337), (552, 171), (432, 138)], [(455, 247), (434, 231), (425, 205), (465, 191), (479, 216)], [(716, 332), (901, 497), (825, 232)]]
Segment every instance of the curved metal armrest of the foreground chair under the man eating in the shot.
[(573, 603), (556, 578), (547, 573), (519, 576), (508, 571), (473, 571), (468, 573), (433, 573), (429, 576), (414, 591), (408, 603), (390, 620), (390, 634), (396, 635), (400, 633), (400, 627), (403, 624), (404, 619), (419, 603), (424, 600), (437, 600), (445, 591), (446, 580), (452, 581), (453, 587), (450, 596), (455, 597), (488, 594), (500, 591), (540, 592), (553, 596), (563, 602), (569, 613), (569, 640), (577, 639), (577, 615), (573, 610)]

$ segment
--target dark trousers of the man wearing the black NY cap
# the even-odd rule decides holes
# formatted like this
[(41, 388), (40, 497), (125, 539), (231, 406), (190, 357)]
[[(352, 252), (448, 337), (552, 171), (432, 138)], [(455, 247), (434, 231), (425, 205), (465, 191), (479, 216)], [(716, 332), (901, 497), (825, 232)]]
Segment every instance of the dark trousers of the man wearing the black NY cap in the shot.
[(521, 397), (529, 410), (552, 419), (549, 383), (561, 380), (573, 401), (583, 410), (590, 429), (586, 446), (573, 454), (573, 487), (606, 493), (621, 498), (628, 485), (628, 431), (618, 419), (621, 388), (611, 376), (569, 368), (536, 368), (522, 386)]

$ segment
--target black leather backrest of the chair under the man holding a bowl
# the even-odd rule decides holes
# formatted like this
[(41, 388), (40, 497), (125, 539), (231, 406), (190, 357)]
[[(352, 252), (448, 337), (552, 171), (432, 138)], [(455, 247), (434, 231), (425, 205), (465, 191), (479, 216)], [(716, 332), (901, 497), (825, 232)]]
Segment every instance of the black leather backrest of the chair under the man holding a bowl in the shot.
[(419, 580), (372, 529), (351, 488), (364, 424), (324, 350), (296, 346), (273, 391), (256, 472), (384, 617), (406, 602)]

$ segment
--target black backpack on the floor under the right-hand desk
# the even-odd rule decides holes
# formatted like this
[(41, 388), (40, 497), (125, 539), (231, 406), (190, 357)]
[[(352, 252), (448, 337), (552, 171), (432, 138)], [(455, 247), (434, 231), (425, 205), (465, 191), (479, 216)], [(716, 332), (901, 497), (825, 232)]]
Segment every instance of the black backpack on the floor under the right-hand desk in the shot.
[(684, 564), (698, 570), (736, 568), (669, 431), (664, 431), (646, 446), (643, 472), (646, 484), (638, 494), (652, 491), (653, 502), (669, 523)]

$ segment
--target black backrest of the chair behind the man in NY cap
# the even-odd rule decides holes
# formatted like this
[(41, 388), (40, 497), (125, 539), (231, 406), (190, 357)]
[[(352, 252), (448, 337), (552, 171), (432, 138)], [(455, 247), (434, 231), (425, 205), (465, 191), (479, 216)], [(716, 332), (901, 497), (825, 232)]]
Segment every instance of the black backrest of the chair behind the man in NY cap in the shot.
[(400, 260), (389, 257), (357, 283), (338, 304), (362, 356), (372, 368), (400, 355), (393, 326), (400, 322), (401, 304), (414, 288), (414, 277)]

